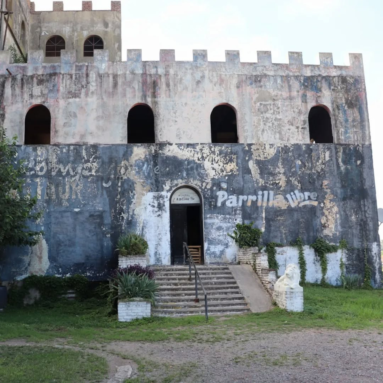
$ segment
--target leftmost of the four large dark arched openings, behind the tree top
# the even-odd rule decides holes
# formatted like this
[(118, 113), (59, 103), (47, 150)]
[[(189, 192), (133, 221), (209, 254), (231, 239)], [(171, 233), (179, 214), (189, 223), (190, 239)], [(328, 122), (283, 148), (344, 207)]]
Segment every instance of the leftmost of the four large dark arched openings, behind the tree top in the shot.
[(51, 113), (44, 105), (36, 105), (25, 116), (24, 145), (51, 143)]

